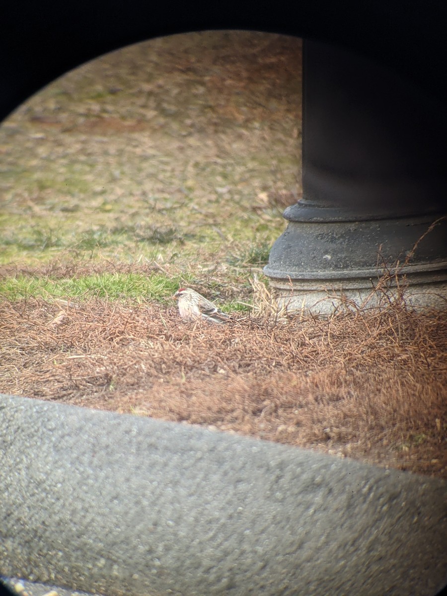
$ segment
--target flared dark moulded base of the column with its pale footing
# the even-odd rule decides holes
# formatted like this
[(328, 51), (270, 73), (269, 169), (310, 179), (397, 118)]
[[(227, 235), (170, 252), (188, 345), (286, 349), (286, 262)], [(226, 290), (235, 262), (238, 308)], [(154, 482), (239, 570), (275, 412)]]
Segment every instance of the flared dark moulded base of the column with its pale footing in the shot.
[(447, 261), (436, 256), (447, 219), (436, 219), (291, 221), (264, 271), (289, 312), (327, 315), (396, 299), (414, 308), (445, 308)]

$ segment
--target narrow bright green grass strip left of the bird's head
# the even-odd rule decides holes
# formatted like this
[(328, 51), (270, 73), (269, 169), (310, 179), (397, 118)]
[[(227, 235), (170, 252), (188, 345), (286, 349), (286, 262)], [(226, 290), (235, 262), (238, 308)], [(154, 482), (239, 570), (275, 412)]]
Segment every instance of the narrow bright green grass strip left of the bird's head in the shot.
[(163, 273), (142, 275), (137, 273), (102, 273), (79, 278), (5, 277), (0, 280), (0, 296), (8, 300), (29, 297), (89, 299), (92, 297), (110, 300), (155, 300), (166, 302), (172, 294), (187, 281), (187, 277)]

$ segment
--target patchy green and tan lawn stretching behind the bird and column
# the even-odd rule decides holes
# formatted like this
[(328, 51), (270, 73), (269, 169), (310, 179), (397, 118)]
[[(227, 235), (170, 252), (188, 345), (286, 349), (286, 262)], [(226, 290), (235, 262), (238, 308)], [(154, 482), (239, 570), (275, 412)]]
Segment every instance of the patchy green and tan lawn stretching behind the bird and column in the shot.
[[(241, 47), (257, 44), (263, 55), (263, 39), (243, 37)], [(238, 66), (237, 50), (234, 64), (222, 65), (230, 89), (213, 79), (216, 40), (231, 52), (227, 38), (179, 36), (105, 56), (0, 126), (4, 296), (163, 300), (181, 283), (247, 308), (236, 301), (249, 300), (252, 271), (285, 227), (262, 195), (297, 188), (301, 91), (299, 70), (290, 73), (299, 48), (275, 42), (274, 75), (250, 52)], [(182, 63), (191, 68), (179, 70)], [(259, 109), (266, 98), (278, 111)], [(122, 126), (129, 121), (139, 123), (134, 132)], [(134, 274), (93, 275), (105, 261)], [(154, 261), (160, 269), (139, 277)], [(53, 266), (70, 263), (73, 278), (51, 277)], [(23, 269), (35, 277), (18, 276)]]

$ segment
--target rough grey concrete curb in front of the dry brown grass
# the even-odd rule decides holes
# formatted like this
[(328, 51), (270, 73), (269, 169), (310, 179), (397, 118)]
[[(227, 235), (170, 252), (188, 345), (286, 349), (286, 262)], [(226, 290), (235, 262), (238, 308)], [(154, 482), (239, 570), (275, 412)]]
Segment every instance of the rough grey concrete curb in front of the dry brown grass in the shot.
[(447, 483), (0, 396), (0, 574), (107, 596), (434, 595)]

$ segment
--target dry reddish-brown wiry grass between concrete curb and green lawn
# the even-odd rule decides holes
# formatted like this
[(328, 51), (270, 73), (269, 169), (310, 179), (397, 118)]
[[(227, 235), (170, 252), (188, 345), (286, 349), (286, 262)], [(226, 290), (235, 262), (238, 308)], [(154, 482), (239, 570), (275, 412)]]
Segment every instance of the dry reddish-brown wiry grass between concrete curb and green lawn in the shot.
[(0, 390), (185, 421), (447, 477), (447, 317), (402, 303), (328, 319), (0, 303)]

